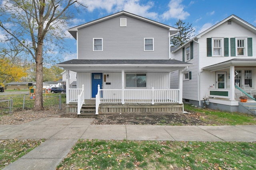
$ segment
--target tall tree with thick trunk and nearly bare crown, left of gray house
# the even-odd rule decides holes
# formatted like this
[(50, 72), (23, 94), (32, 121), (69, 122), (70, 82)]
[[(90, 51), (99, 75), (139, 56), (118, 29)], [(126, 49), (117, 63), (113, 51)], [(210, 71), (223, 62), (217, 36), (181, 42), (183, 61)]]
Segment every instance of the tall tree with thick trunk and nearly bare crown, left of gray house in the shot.
[(63, 45), (64, 30), (73, 17), (70, 6), (78, 10), (75, 3), (82, 5), (78, 0), (2, 0), (0, 27), (24, 47), (36, 63), (35, 111), (44, 110), (43, 57)]

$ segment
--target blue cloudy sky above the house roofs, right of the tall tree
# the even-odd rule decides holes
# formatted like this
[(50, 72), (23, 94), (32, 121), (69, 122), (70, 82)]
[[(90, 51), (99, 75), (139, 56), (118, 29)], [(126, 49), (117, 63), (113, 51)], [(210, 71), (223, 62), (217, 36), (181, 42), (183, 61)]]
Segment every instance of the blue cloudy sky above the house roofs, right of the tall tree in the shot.
[[(122, 10), (175, 27), (178, 19), (192, 23), (195, 34), (210, 28), (232, 14), (256, 26), (255, 0), (80, 0), (88, 8), (74, 18), (71, 27), (97, 20)], [(76, 41), (66, 39), (76, 58)]]

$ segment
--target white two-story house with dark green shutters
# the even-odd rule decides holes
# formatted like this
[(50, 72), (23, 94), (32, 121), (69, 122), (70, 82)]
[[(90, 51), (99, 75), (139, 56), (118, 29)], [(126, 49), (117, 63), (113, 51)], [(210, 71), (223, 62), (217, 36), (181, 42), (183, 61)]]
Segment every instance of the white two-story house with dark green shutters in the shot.
[[(185, 102), (204, 107), (207, 100), (208, 108), (254, 114), (246, 105), (256, 106), (256, 27), (231, 15), (171, 52), (172, 59), (194, 64), (183, 71)], [(177, 76), (170, 74), (170, 88), (177, 88)], [(249, 94), (246, 104), (239, 89)]]

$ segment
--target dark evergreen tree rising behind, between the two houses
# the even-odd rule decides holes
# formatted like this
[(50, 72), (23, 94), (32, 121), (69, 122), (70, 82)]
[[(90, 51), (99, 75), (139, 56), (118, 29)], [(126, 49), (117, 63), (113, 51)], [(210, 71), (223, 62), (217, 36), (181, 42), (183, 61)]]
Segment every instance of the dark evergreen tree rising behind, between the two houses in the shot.
[(176, 22), (175, 25), (178, 27), (178, 34), (172, 37), (170, 43), (172, 47), (180, 47), (194, 36), (195, 30), (193, 29), (192, 24), (186, 24), (180, 19)]

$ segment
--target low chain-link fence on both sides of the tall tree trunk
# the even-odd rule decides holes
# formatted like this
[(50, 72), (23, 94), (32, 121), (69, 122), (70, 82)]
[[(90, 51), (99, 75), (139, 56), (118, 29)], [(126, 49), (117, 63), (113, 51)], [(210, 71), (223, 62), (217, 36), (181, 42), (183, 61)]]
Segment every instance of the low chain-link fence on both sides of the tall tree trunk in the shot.
[[(33, 109), (35, 98), (33, 96), (1, 96), (0, 113)], [(56, 106), (62, 109), (62, 103), (66, 102), (65, 95), (43, 96), (43, 106)]]

